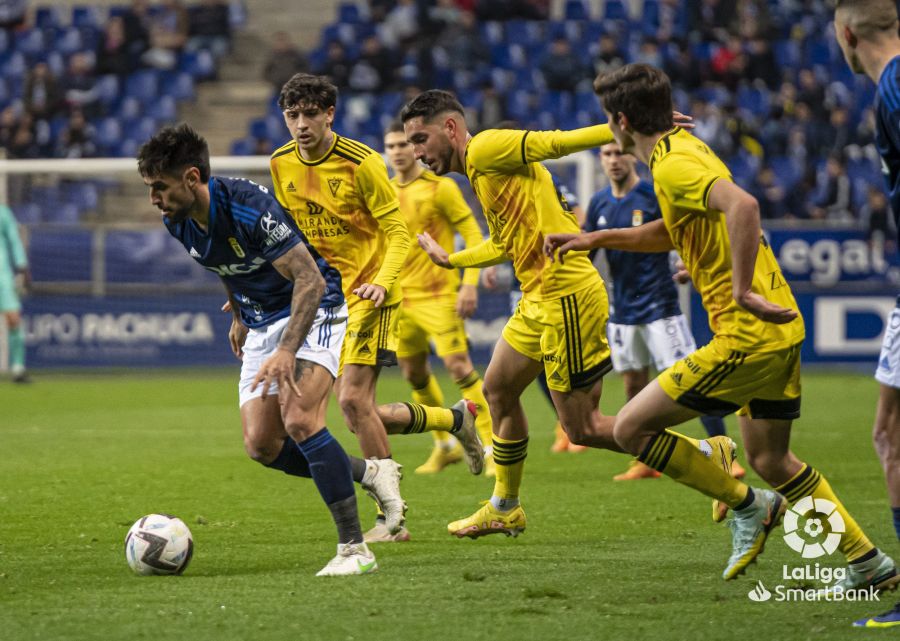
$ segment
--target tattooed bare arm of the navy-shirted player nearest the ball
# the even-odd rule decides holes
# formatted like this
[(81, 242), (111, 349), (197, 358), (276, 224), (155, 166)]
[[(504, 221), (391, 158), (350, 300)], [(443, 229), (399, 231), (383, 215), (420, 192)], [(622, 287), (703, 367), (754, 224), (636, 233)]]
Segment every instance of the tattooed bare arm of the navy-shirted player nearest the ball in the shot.
[(270, 383), (277, 382), (281, 389), (290, 388), (300, 396), (300, 388), (297, 387), (299, 376), (294, 375), (296, 354), (316, 318), (319, 301), (325, 293), (325, 279), (322, 278), (309, 251), (302, 244), (294, 245), (272, 265), (294, 284), (291, 316), (278, 349), (259, 368), (251, 389), (256, 389), (257, 385), (262, 384), (262, 395), (265, 398)]

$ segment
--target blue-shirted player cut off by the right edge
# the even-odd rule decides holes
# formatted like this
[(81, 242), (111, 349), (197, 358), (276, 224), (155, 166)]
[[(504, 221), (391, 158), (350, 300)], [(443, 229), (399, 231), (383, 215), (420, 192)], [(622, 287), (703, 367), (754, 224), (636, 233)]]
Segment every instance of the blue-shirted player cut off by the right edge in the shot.
[[(875, 93), (875, 146), (891, 200), (900, 219), (900, 36), (894, 0), (838, 0), (834, 32), (847, 64), (878, 85)], [(880, 383), (873, 440), (881, 459), (894, 530), (900, 539), (900, 297), (885, 324), (881, 355), (875, 370)], [(856, 626), (900, 626), (900, 603), (884, 614), (867, 617)]]

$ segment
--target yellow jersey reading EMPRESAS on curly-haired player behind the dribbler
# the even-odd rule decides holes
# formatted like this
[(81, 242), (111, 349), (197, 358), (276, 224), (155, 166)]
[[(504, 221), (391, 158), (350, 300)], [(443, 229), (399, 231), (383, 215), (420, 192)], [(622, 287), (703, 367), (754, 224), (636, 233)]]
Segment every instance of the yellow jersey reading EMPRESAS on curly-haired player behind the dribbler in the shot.
[(402, 299), (397, 283), (410, 237), (381, 155), (333, 134), (324, 156), (304, 160), (292, 141), (272, 154), (275, 196), (316, 251), (341, 273), (348, 306), (369, 307), (353, 290), (387, 290), (383, 305)]

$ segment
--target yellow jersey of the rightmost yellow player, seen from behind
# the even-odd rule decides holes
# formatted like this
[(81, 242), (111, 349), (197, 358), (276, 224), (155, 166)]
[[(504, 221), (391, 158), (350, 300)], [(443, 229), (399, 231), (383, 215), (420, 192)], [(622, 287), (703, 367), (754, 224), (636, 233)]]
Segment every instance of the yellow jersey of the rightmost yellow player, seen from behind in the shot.
[[(656, 143), (650, 171), (672, 244), (700, 292), (713, 333), (738, 351), (775, 351), (802, 341), (801, 316), (784, 325), (767, 323), (734, 300), (725, 214), (708, 206), (716, 181), (731, 180), (725, 164), (700, 139), (675, 127)], [(799, 314), (765, 236), (760, 236), (759, 242), (751, 289)]]

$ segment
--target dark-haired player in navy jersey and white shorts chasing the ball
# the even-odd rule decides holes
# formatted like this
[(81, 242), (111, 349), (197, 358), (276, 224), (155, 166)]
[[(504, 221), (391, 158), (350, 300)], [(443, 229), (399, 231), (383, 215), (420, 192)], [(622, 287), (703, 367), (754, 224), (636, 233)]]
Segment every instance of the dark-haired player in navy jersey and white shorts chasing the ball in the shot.
[[(402, 499), (396, 464), (348, 457), (324, 427), (347, 323), (340, 275), (265, 187), (210, 176), (206, 141), (187, 125), (166, 127), (145, 143), (138, 170), (166, 229), (228, 292), (247, 453), (312, 478), (331, 511), (338, 553), (317, 576), (376, 570), (353, 479), (382, 504)], [(402, 517), (402, 505), (391, 509)]]

